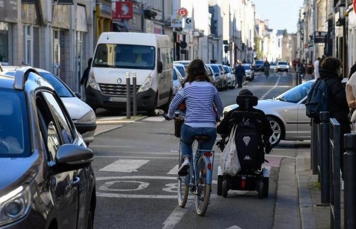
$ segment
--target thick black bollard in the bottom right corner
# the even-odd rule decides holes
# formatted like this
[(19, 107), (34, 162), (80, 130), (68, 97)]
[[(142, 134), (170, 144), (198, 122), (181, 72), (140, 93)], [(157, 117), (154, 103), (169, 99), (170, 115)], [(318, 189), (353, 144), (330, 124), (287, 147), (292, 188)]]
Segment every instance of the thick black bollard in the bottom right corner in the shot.
[(344, 135), (344, 223), (356, 228), (356, 134)]

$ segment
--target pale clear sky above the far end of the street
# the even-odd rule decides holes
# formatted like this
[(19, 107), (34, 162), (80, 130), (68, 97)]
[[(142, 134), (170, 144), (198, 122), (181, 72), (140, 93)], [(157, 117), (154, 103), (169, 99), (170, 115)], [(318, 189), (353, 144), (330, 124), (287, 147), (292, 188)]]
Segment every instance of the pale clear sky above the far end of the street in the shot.
[(256, 13), (261, 19), (269, 19), (269, 27), (276, 30), (287, 29), (288, 33), (296, 32), (299, 9), (303, 0), (252, 0)]

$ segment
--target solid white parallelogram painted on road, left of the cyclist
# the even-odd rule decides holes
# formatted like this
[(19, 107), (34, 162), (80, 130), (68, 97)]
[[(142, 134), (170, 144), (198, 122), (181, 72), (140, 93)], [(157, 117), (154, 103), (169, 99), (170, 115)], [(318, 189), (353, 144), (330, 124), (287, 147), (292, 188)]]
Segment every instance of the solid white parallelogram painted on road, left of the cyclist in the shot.
[(117, 160), (99, 169), (99, 171), (113, 171), (117, 173), (132, 173), (150, 160)]

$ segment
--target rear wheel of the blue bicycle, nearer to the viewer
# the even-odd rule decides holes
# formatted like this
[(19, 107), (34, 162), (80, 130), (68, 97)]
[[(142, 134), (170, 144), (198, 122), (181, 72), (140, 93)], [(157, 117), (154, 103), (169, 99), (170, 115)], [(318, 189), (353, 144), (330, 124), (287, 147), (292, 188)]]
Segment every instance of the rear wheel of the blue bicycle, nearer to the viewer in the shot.
[(210, 192), (212, 186), (206, 183), (207, 164), (205, 157), (201, 156), (196, 167), (196, 195), (195, 195), (195, 211), (199, 216), (203, 216), (209, 205)]

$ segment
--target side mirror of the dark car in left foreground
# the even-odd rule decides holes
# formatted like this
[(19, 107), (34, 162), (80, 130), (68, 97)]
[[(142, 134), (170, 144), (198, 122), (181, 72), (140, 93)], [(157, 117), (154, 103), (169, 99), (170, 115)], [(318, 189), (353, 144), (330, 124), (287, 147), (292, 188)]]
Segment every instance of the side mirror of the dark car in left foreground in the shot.
[(94, 160), (91, 149), (73, 144), (60, 146), (55, 157), (54, 170), (56, 173), (84, 168)]

